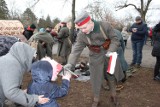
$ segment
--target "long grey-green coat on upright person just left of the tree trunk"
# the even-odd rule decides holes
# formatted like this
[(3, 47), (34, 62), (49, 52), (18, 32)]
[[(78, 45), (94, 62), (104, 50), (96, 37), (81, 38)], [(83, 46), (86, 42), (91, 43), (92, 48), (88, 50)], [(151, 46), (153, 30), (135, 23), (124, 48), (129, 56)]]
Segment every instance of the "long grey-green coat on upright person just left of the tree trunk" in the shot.
[(69, 39), (69, 29), (62, 27), (57, 36), (58, 42), (58, 56), (68, 56), (71, 52), (71, 41)]

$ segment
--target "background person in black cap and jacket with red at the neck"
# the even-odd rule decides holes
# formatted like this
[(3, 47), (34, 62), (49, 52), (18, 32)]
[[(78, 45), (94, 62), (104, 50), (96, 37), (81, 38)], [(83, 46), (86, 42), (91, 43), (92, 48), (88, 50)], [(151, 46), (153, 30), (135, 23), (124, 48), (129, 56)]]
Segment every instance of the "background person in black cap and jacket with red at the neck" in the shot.
[(36, 26), (32, 24), (31, 26), (28, 26), (24, 32), (23, 35), (26, 37), (27, 40), (33, 35), (34, 30), (36, 29)]

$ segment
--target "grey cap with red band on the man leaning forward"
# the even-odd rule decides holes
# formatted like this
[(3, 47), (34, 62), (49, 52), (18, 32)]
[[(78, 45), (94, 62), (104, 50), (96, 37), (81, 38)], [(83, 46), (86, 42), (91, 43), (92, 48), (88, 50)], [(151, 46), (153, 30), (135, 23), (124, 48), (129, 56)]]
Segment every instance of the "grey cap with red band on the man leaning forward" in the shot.
[(89, 22), (90, 20), (91, 17), (89, 16), (89, 14), (86, 11), (83, 11), (81, 14), (77, 16), (74, 22), (76, 23), (76, 25), (82, 26), (87, 22)]

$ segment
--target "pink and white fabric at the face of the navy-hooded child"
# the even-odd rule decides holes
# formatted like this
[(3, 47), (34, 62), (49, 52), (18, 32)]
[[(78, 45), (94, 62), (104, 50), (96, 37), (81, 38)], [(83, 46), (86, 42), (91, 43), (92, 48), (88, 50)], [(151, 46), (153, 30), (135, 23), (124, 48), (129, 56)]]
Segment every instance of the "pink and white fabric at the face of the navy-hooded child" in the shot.
[(50, 64), (52, 65), (53, 74), (52, 74), (51, 80), (54, 81), (55, 78), (57, 78), (57, 75), (59, 74), (59, 72), (62, 70), (63, 66), (61, 64), (59, 64), (58, 62), (56, 62), (54, 59), (50, 59), (49, 57), (45, 57), (42, 60), (49, 61)]

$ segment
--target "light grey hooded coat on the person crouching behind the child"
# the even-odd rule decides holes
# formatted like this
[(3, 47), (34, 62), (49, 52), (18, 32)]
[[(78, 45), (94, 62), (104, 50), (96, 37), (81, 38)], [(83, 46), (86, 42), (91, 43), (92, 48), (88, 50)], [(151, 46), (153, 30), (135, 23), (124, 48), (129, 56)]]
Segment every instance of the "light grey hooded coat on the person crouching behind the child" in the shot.
[(0, 57), (0, 103), (5, 99), (24, 106), (33, 106), (37, 95), (29, 95), (20, 89), (23, 75), (29, 71), (35, 50), (28, 44), (16, 42), (9, 53)]

